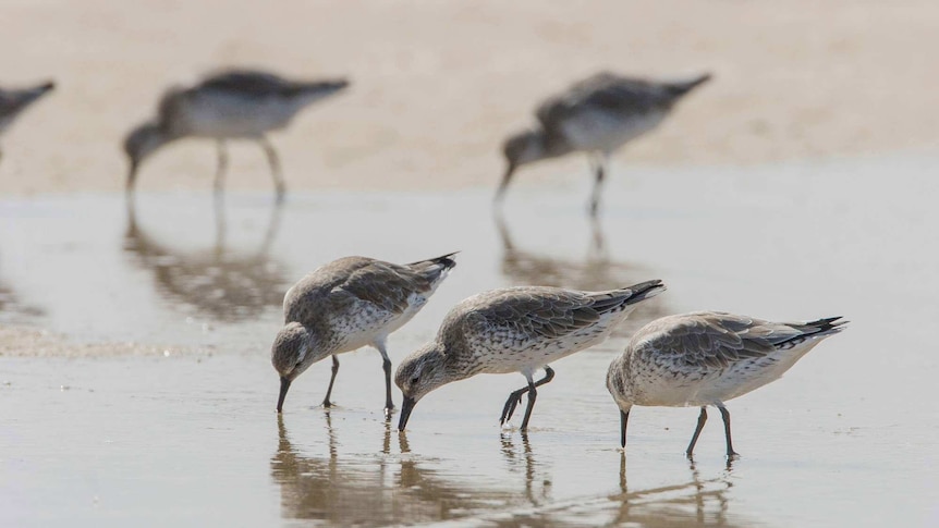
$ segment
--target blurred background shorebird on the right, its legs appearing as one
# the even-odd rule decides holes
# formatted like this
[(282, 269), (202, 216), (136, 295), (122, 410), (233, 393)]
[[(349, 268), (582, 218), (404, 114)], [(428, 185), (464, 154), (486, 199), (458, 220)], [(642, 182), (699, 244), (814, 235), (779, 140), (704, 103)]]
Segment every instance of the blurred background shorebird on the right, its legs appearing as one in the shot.
[(510, 136), (502, 145), (508, 168), (496, 193), (502, 200), (519, 167), (586, 152), (596, 180), (590, 195), (590, 214), (596, 214), (600, 189), (611, 154), (654, 130), (675, 102), (710, 78), (704, 74), (684, 82), (656, 82), (612, 73), (598, 73), (538, 106), (538, 126)]

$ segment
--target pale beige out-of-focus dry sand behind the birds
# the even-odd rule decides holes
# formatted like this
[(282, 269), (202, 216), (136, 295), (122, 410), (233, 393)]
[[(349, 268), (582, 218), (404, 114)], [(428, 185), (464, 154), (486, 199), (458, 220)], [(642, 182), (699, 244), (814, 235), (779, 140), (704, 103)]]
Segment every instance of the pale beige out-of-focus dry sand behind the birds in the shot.
[[(544, 96), (599, 69), (711, 71), (632, 163), (763, 163), (935, 148), (939, 4), (13, 0), (0, 7), (4, 85), (52, 77), (3, 138), (0, 193), (115, 191), (123, 133), (161, 90), (228, 65), (347, 75), (354, 88), (275, 137), (294, 188), (459, 188), (499, 177), (498, 145)], [(167, 148), (144, 189), (207, 188), (215, 151)], [(580, 163), (580, 164), (577, 164)], [(583, 160), (533, 169), (583, 169)], [(267, 188), (261, 152), (230, 184)]]

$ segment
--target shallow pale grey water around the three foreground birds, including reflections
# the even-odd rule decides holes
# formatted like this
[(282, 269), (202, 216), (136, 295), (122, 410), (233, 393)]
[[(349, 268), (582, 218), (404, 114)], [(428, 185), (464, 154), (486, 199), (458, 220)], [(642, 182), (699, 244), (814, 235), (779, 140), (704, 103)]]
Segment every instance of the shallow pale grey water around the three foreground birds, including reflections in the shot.
[[(598, 224), (586, 175), (520, 176), (501, 222), (490, 189), (0, 201), (0, 322), (142, 351), (0, 357), (0, 525), (935, 526), (937, 162), (617, 168)], [(553, 365), (527, 435), (496, 420), (521, 376), (440, 389), (399, 435), (370, 349), (341, 356), (339, 407), (315, 406), (324, 363), (275, 415), (268, 353), (290, 284), (339, 256), (454, 249), (390, 339), (395, 363), (480, 290), (659, 278), (669, 292)], [(731, 467), (716, 413), (695, 463), (682, 455), (696, 409), (635, 408), (623, 458), (606, 367), (637, 324), (693, 309), (852, 323), (729, 403)]]

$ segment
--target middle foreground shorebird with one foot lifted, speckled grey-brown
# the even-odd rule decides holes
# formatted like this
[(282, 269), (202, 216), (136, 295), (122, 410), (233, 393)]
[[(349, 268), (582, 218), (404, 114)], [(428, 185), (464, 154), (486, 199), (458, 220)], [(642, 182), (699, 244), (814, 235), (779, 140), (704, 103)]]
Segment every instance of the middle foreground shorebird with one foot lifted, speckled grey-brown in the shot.
[[(437, 337), (399, 365), (394, 382), (404, 403), (398, 429), (404, 430), (414, 406), (435, 389), (478, 373), (521, 372), (528, 384), (509, 395), (499, 421), (505, 425), (527, 393), (526, 430), (536, 388), (554, 378), (548, 364), (601, 343), (638, 303), (664, 290), (661, 281), (608, 292), (516, 286), (464, 299), (443, 319)], [(537, 369), (545, 378), (536, 382)]]

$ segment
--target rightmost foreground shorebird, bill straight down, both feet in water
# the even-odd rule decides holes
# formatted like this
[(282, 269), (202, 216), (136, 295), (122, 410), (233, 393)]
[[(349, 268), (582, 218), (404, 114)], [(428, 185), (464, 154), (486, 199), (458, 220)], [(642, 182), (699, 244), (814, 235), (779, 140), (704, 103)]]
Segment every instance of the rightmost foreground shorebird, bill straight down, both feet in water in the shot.
[(770, 322), (719, 311), (657, 319), (636, 332), (610, 364), (607, 389), (620, 407), (621, 444), (633, 405), (699, 406), (697, 428), (685, 454), (691, 457), (714, 405), (723, 418), (727, 456), (733, 458), (728, 400), (779, 379), (824, 339), (847, 321)]

